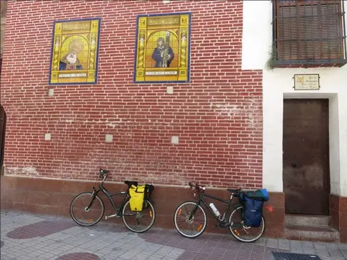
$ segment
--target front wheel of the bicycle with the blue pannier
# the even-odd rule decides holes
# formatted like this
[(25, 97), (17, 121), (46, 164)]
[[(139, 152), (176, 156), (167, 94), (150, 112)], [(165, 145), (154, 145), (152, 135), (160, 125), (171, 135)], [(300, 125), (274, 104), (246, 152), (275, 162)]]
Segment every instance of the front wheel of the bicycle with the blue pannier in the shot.
[[(195, 209), (195, 206), (197, 206), (197, 211), (195, 211), (194, 216), (189, 220), (189, 216)], [(179, 234), (186, 238), (196, 238), (205, 231), (207, 227), (207, 216), (202, 206), (196, 202), (183, 202), (175, 211), (174, 222)]]

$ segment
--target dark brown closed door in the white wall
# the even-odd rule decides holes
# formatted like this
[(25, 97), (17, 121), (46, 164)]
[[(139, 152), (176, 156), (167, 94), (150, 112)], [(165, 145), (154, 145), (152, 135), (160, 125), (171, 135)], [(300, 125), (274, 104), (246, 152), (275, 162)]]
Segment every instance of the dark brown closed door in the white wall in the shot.
[(286, 213), (329, 215), (328, 106), (328, 99), (284, 99)]

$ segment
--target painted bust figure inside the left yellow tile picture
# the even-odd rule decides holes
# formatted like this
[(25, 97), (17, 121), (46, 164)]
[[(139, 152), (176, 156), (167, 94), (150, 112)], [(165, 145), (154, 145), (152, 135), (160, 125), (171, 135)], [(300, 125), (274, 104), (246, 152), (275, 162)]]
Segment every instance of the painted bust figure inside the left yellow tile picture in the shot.
[(82, 70), (77, 54), (83, 50), (83, 42), (74, 39), (70, 42), (69, 49), (70, 52), (60, 60), (59, 70)]

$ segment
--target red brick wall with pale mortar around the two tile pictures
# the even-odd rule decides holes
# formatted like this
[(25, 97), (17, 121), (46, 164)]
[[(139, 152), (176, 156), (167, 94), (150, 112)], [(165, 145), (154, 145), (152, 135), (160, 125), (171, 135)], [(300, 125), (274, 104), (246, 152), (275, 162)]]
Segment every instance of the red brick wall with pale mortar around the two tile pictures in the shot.
[[(242, 1), (9, 1), (1, 74), (7, 174), (95, 179), (104, 167), (113, 181), (261, 186), (262, 74), (241, 70), (242, 8)], [(136, 15), (187, 11), (191, 83), (133, 83)], [(92, 17), (102, 18), (98, 83), (49, 87), (54, 20)]]

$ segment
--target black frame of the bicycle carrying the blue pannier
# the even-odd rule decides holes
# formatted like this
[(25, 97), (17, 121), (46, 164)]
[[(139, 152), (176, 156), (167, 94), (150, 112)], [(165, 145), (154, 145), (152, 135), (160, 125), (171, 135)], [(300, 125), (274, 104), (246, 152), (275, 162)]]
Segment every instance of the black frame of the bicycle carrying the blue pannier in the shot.
[[(220, 220), (220, 216), (217, 217), (215, 215), (215, 213), (213, 212), (213, 210), (211, 209), (211, 206), (209, 206), (209, 204), (207, 204), (207, 202), (204, 201), (204, 197), (209, 197), (213, 200), (218, 200), (219, 202), (223, 202), (225, 204), (227, 204), (227, 206), (225, 207), (225, 212), (223, 213), (223, 218)], [(198, 205), (200, 205), (200, 202), (202, 202), (202, 204), (204, 204), (204, 206), (207, 207), (207, 209), (209, 209), (209, 211), (211, 212), (213, 218), (216, 218), (216, 220), (218, 221), (218, 223), (223, 227), (227, 227), (227, 225), (229, 225), (230, 223), (225, 223), (225, 217), (227, 216), (227, 213), (229, 212), (230, 206), (232, 206), (233, 209), (237, 209), (239, 206), (242, 206), (241, 203), (234, 203), (232, 204), (232, 199), (233, 197), (237, 197), (236, 195), (234, 195), (234, 193), (232, 193), (232, 195), (230, 196), (229, 200), (223, 200), (220, 199), (219, 197), (213, 196), (213, 195), (209, 195), (204, 193), (204, 191), (202, 192), (202, 194), (200, 195), (200, 200), (197, 202), (197, 204), (195, 205), (195, 209), (191, 212), (191, 216), (189, 216), (189, 219), (191, 219), (193, 217), (193, 215), (195, 214), (195, 212), (198, 209)]]

